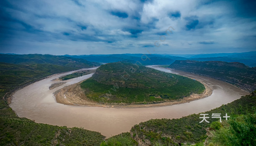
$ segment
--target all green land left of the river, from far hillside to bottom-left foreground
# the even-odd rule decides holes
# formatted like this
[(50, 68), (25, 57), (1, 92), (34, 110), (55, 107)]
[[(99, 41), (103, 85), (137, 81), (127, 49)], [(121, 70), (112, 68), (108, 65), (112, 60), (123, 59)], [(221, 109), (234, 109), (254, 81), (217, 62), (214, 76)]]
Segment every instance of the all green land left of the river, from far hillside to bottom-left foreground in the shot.
[[(99, 132), (82, 128), (67, 128), (38, 124), (19, 118), (8, 106), (7, 96), (11, 91), (54, 73), (76, 68), (51, 65), (0, 64), (0, 145), (48, 146), (86, 145), (99, 146), (105, 139)], [(7, 94), (7, 95), (6, 95)], [(5, 98), (4, 98), (5, 97)]]

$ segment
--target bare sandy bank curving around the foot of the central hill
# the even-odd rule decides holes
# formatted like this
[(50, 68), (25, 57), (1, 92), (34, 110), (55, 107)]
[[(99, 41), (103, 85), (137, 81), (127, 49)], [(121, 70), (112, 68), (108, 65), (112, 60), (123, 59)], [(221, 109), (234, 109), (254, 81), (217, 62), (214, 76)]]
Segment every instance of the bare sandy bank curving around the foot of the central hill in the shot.
[[(191, 78), (191, 77), (189, 77)], [(192, 78), (194, 79), (194, 78)], [(196, 80), (196, 79), (195, 79)], [(94, 106), (94, 107), (109, 107), (109, 108), (144, 108), (144, 107), (162, 107), (174, 104), (187, 103), (190, 101), (202, 99), (208, 97), (212, 94), (213, 88), (203, 81), (201, 82), (206, 88), (201, 94), (192, 94), (191, 96), (184, 97), (183, 99), (165, 101), (161, 103), (149, 103), (149, 104), (99, 104), (94, 101), (90, 101), (84, 95), (84, 91), (80, 88), (80, 83), (69, 85), (67, 87), (61, 88), (54, 92), (57, 103), (62, 103), (66, 105), (78, 105), (78, 106)]]

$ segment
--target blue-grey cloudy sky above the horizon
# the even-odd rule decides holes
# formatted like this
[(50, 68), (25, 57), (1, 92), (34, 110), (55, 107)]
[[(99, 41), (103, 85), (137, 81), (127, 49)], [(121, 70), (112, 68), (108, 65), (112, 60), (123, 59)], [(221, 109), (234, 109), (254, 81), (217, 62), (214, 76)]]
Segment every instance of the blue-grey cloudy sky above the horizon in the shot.
[(0, 53), (256, 51), (255, 7), (255, 0), (1, 0)]

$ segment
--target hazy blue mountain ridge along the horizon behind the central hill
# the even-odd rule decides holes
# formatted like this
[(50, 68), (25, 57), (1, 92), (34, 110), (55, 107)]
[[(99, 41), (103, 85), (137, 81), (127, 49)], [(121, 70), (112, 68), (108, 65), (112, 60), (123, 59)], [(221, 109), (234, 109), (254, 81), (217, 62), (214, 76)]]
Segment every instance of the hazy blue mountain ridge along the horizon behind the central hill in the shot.
[(93, 62), (127, 61), (142, 65), (170, 65), (175, 60), (196, 61), (226, 61), (240, 62), (250, 67), (256, 66), (256, 51), (245, 53), (215, 53), (215, 54), (108, 54), (108, 55), (64, 55), (82, 58)]

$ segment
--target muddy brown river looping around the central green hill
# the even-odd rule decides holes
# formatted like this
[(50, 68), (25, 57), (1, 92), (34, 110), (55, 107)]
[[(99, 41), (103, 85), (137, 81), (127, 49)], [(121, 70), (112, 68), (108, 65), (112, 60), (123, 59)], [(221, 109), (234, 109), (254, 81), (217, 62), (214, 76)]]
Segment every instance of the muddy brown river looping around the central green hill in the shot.
[[(72, 71), (50, 76), (18, 90), (13, 95), (10, 107), (16, 111), (19, 117), (35, 120), (37, 123), (83, 127), (87, 130), (101, 132), (102, 135), (110, 137), (121, 132), (127, 132), (133, 125), (140, 122), (150, 119), (181, 118), (182, 116), (197, 114), (217, 108), (222, 104), (230, 103), (241, 96), (249, 94), (233, 85), (212, 78), (168, 70), (155, 65), (147, 67), (200, 80), (213, 87), (212, 95), (189, 103), (148, 108), (87, 107), (57, 103), (53, 92), (93, 75), (87, 74), (82, 77), (66, 80), (66, 84), (49, 90), (49, 86), (52, 83), (60, 82), (52, 81), (53, 79), (73, 73), (74, 71)], [(200, 122), (200, 119), (198, 121)]]

